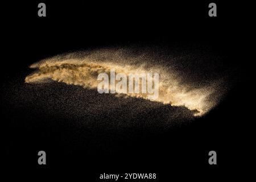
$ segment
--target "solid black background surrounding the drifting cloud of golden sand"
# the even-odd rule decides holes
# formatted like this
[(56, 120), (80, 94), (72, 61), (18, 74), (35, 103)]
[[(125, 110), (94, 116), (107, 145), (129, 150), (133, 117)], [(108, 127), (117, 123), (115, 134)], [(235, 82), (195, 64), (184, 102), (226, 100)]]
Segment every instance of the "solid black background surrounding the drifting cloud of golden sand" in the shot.
[[(23, 79), (28, 65), (58, 53), (134, 43), (185, 44), (191, 48), (207, 45), (225, 58), (225, 67), (239, 69), (239, 78), (225, 100), (204, 117), (164, 133), (115, 140), (118, 149), (106, 154), (97, 147), (88, 153), (86, 146), (75, 152), (65, 151), (67, 147), (61, 146), (56, 136), (68, 135), (66, 127), (27, 127), (26, 123), (32, 121), (22, 116), (22, 109), (10, 111), (2, 102), (2, 122), (8, 129), (4, 133), (4, 159), (12, 176), (38, 175), (32, 177), (34, 180), (49, 175), (63, 179), (71, 176), (96, 181), (104, 172), (151, 172), (157, 173), (160, 181), (175, 177), (208, 181), (241, 173), (241, 163), (252, 155), (244, 131), (249, 123), (245, 114), (249, 94), (245, 68), (249, 61), (243, 53), (249, 33), (249, 5), (214, 1), (217, 17), (210, 18), (210, 1), (43, 2), (47, 6), (46, 18), (38, 17), (39, 1), (2, 6), (4, 84), (16, 77)], [(39, 123), (47, 120), (42, 115), (31, 118)], [(24, 125), (13, 125), (16, 121)], [(40, 150), (47, 153), (46, 166), (37, 163)], [(210, 150), (217, 152), (216, 166), (208, 164)]]

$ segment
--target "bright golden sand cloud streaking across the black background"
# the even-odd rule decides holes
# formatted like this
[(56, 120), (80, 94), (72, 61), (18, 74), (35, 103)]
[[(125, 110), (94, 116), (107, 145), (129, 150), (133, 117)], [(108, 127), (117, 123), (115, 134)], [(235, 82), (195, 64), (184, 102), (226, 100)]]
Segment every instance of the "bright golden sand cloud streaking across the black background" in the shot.
[[(97, 89), (100, 73), (159, 73), (159, 97), (152, 101), (170, 104), (172, 106), (185, 106), (195, 111), (195, 116), (202, 116), (212, 109), (218, 100), (217, 88), (212, 86), (199, 86), (185, 84), (179, 74), (171, 72), (161, 65), (151, 65), (141, 61), (143, 58), (125, 57), (120, 51), (96, 51), (80, 55), (70, 53), (59, 55), (50, 59), (32, 64), (30, 68), (36, 69), (34, 73), (25, 78), (26, 83), (40, 83), (47, 80), (64, 82), (69, 85), (79, 85), (87, 89)], [(131, 61), (129, 61), (131, 60)], [(147, 62), (148, 63), (148, 62)], [(118, 96), (118, 94), (115, 94)], [(145, 94), (127, 94), (130, 97), (147, 99)]]

